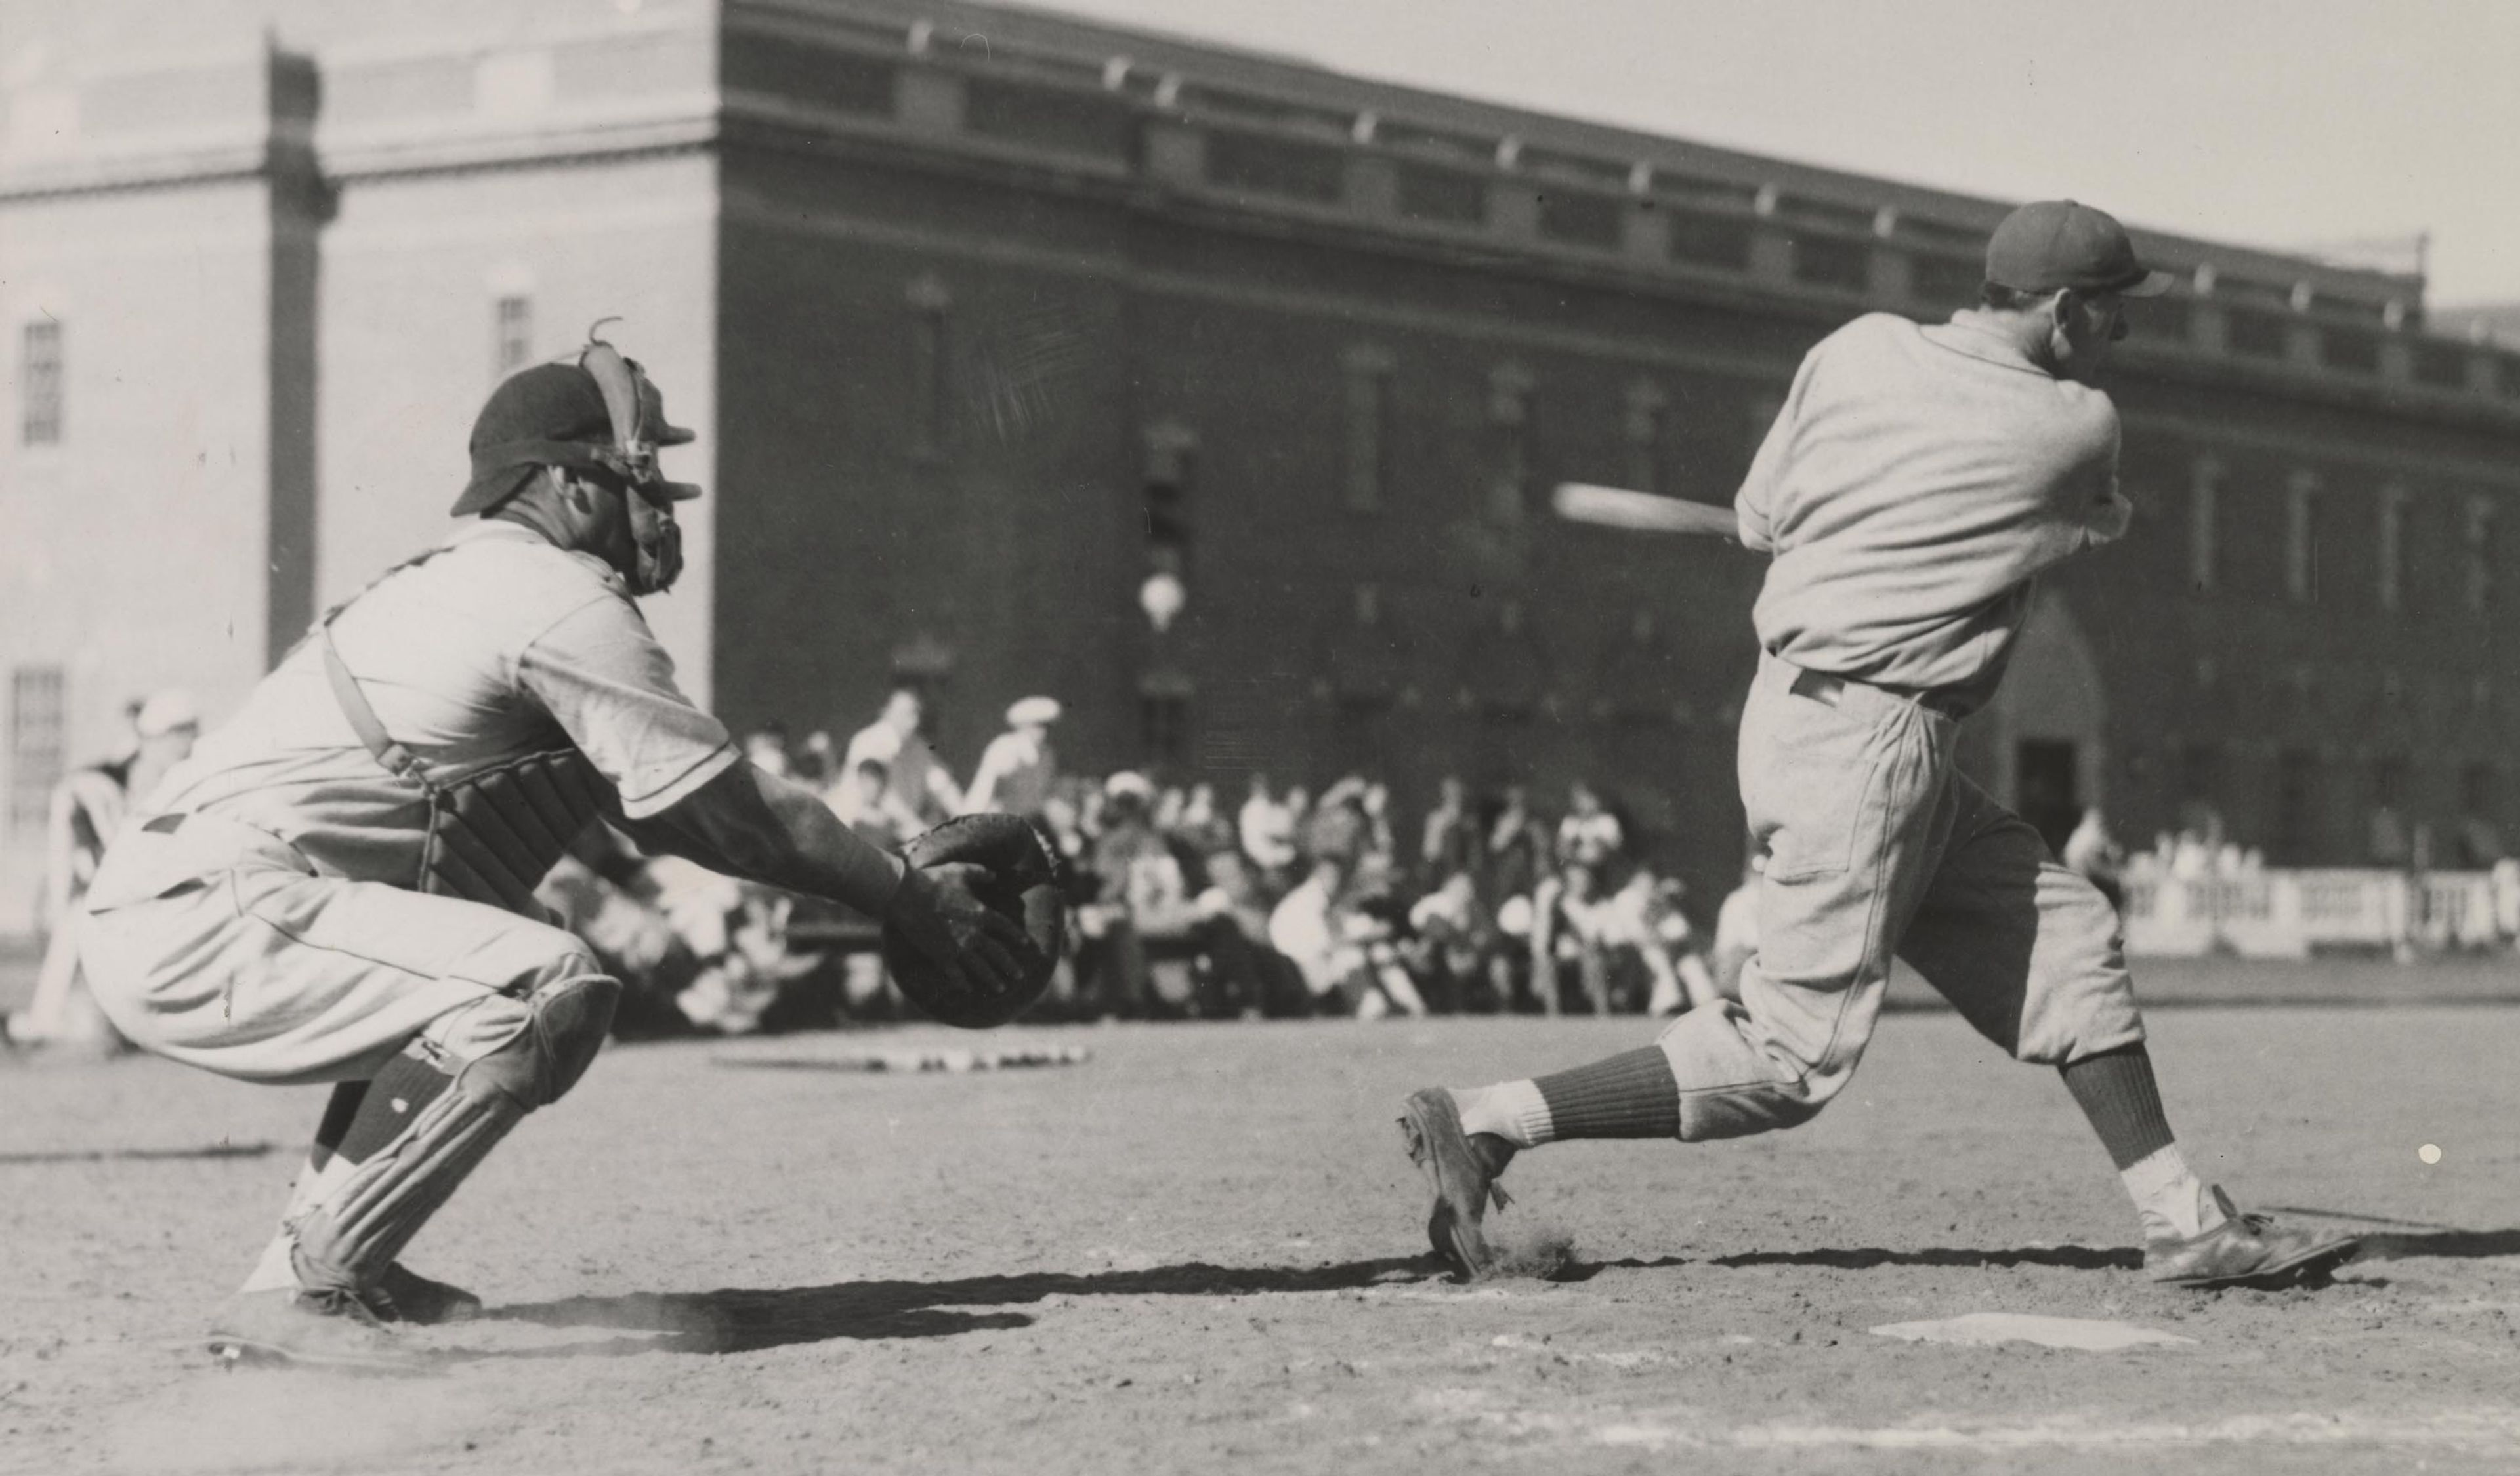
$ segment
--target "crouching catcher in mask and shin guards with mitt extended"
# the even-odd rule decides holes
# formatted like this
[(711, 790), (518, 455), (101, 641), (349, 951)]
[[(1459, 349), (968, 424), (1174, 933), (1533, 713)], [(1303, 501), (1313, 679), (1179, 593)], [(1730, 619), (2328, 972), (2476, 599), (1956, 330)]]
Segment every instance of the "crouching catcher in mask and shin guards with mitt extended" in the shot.
[(1028, 826), (887, 856), (675, 688), (638, 599), (683, 567), (698, 489), (655, 451), (685, 441), (605, 343), (501, 383), (454, 504), (474, 521), (325, 612), (106, 854), (81, 942), (113, 1025), (239, 1081), (338, 1083), (214, 1353), (408, 1368), (393, 1322), (479, 1312), (396, 1257), (605, 1040), (620, 982), (532, 902), (597, 816), (882, 917), (940, 1018), (1003, 1023), (1048, 982)]

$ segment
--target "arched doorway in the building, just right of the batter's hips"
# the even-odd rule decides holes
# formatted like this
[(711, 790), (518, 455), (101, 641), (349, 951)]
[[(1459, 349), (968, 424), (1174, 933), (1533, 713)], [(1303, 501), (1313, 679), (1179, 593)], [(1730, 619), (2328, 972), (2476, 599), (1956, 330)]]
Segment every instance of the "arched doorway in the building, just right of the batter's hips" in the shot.
[(2041, 589), (2003, 688), (1961, 746), (1968, 773), (2061, 849), (2107, 798), (2109, 695), (2074, 612)]

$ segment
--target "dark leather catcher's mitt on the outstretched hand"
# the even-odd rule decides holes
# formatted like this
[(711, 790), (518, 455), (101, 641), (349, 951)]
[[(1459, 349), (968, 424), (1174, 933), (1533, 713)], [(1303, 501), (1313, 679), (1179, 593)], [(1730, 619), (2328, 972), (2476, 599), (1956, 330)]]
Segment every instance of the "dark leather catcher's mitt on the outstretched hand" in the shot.
[(1026, 1013), (1051, 987), (1051, 970), (1058, 967), (1066, 945), (1066, 861), (1058, 851), (1016, 816), (960, 816), (910, 841), (902, 859), (920, 869), (955, 861), (985, 866), (988, 879), (973, 887), (973, 897), (1031, 940), (1031, 947), (1021, 950), (1023, 980), (1003, 995), (990, 995), (980, 985), (963, 987), (948, 980), (925, 952), (887, 924), (885, 970), (902, 995), (927, 1018), (965, 1030), (1005, 1025)]

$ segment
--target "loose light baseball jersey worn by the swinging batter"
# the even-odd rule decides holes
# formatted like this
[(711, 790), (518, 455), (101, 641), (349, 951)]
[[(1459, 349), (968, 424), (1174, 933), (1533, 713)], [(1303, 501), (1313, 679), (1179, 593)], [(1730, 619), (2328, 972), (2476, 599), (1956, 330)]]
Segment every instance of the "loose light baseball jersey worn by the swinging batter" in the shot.
[(1804, 355), (1734, 511), (1772, 554), (1759, 645), (1973, 708), (2039, 572), (2127, 531), (2117, 408), (1976, 312), (1867, 312)]

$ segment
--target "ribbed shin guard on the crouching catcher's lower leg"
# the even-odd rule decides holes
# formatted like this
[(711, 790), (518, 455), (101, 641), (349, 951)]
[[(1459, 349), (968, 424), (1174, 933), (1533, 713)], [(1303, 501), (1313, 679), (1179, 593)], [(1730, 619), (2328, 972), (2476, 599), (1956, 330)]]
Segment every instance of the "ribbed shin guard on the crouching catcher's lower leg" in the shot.
[(595, 1063), (620, 982), (577, 972), (537, 982), (524, 1025), (451, 1076), (413, 1043), (368, 1086), (340, 1144), (350, 1166), (290, 1222), (292, 1267), (307, 1290), (363, 1292), (524, 1113), (554, 1103)]

